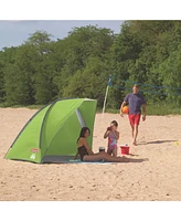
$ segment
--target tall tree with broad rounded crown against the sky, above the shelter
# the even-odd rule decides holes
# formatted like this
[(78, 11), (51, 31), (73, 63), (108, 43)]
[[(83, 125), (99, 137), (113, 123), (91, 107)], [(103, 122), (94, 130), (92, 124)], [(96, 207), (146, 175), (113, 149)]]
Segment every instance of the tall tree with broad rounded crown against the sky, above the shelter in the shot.
[(83, 73), (89, 57), (107, 60), (107, 52), (114, 42), (113, 31), (97, 27), (75, 28), (64, 40), (56, 44), (56, 75), (54, 83), (58, 88), (58, 96), (64, 96), (64, 87), (68, 87), (70, 80), (77, 72)]

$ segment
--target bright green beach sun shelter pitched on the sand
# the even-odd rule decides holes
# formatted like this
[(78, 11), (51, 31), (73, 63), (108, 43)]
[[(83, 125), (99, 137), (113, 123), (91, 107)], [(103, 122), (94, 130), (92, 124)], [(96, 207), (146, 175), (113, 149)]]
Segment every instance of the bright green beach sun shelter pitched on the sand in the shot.
[(91, 129), (92, 147), (96, 105), (95, 99), (67, 98), (44, 106), (25, 124), (4, 158), (44, 162), (49, 157), (75, 156), (84, 126)]

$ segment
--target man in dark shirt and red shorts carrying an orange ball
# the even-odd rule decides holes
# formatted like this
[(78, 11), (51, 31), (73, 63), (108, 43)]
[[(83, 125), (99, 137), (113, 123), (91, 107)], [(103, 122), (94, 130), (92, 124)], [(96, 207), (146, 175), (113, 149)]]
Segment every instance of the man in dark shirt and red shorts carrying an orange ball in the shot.
[(124, 102), (120, 106), (120, 116), (123, 117), (123, 107), (126, 104), (129, 104), (129, 122), (131, 126), (131, 133), (132, 133), (132, 145), (137, 145), (137, 135), (138, 135), (138, 125), (140, 122), (141, 116), (141, 107), (142, 107), (142, 120), (146, 120), (146, 101), (142, 97), (141, 94), (139, 94), (139, 85), (135, 84), (132, 87), (132, 93), (127, 94), (124, 98)]

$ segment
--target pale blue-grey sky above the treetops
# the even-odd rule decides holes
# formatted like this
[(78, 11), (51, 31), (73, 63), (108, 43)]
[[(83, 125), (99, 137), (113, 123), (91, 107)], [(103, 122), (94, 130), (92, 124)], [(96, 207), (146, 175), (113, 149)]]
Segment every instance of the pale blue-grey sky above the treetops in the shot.
[(124, 20), (0, 20), (0, 50), (21, 45), (36, 30), (46, 31), (53, 40), (64, 39), (74, 27), (98, 25), (120, 32)]

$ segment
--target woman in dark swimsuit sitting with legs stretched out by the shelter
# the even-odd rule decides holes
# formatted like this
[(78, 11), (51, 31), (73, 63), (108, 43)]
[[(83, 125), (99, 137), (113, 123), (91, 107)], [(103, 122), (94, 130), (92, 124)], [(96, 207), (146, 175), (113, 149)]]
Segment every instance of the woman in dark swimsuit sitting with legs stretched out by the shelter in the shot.
[(91, 130), (88, 127), (83, 127), (77, 139), (77, 150), (81, 156), (82, 161), (111, 161), (111, 162), (126, 162), (129, 161), (126, 157), (113, 157), (107, 152), (97, 152), (94, 154), (87, 143), (87, 137), (89, 136)]

